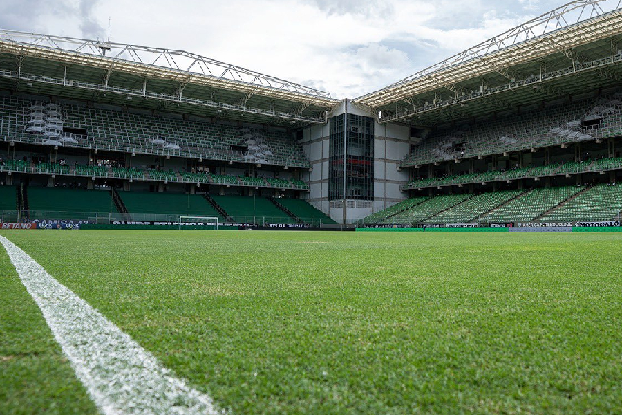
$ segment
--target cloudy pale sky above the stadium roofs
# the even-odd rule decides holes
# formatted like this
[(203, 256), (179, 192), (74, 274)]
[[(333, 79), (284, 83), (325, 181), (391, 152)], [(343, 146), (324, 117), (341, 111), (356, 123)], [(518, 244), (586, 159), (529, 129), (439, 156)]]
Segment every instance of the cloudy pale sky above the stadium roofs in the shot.
[(565, 2), (0, 0), (0, 28), (175, 48), (355, 98)]

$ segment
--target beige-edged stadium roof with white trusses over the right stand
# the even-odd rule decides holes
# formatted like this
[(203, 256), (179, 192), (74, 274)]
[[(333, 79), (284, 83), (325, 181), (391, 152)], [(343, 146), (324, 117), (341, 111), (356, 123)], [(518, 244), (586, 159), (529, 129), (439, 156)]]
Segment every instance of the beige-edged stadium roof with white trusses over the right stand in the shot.
[(381, 122), (432, 124), (533, 103), (534, 90), (551, 98), (619, 84), (621, 3), (571, 1), (355, 101)]

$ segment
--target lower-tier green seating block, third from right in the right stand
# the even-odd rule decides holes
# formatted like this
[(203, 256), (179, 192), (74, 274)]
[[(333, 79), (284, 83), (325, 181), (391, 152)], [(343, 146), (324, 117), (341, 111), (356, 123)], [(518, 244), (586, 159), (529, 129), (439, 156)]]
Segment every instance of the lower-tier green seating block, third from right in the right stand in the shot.
[(453, 208), (432, 216), (426, 220), (426, 223), (471, 223), (478, 216), (497, 208), (522, 192), (522, 190), (504, 190), (478, 194), (478, 196), (458, 203)]

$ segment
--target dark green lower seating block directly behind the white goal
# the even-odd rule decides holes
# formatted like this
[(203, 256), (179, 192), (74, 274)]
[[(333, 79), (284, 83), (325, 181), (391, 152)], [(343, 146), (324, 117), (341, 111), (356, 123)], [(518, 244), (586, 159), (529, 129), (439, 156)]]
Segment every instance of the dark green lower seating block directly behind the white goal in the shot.
[(198, 194), (157, 193), (157, 192), (119, 192), (128, 212), (150, 214), (173, 214), (179, 216), (217, 217), (223, 216)]

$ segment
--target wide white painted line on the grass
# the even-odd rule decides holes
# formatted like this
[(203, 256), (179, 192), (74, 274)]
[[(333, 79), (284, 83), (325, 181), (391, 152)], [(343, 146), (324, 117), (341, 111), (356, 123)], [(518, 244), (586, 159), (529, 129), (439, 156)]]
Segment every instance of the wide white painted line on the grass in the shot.
[(0, 236), (23, 285), (88, 394), (106, 414), (218, 414), (207, 394), (173, 377), (140, 344)]

